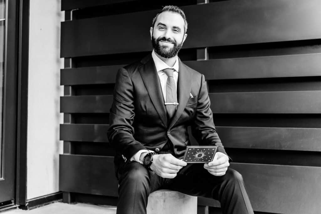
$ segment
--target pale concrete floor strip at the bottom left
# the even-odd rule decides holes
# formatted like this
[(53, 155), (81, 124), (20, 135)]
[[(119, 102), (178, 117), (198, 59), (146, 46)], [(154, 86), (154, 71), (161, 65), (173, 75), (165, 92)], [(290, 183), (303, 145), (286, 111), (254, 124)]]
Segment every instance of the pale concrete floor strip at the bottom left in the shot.
[(48, 204), (39, 208), (35, 208), (32, 210), (6, 210), (1, 212), (1, 214), (115, 214), (116, 207), (108, 207), (108, 206), (99, 206), (93, 204), (84, 204), (84, 203), (76, 203), (76, 204), (66, 204), (62, 202), (56, 202), (52, 204)]

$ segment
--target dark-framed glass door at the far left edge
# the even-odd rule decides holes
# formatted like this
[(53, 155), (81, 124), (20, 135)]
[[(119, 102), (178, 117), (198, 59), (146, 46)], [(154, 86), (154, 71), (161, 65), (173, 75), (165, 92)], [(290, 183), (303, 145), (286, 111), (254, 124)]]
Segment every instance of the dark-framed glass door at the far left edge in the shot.
[(15, 204), (17, 4), (0, 0), (0, 209)]

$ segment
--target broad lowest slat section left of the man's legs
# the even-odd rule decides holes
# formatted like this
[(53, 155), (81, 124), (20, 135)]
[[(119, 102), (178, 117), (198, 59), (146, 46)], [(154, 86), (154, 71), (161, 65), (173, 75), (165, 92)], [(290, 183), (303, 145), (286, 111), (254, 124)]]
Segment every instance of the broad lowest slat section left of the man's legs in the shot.
[(59, 155), (59, 190), (117, 196), (113, 157)]

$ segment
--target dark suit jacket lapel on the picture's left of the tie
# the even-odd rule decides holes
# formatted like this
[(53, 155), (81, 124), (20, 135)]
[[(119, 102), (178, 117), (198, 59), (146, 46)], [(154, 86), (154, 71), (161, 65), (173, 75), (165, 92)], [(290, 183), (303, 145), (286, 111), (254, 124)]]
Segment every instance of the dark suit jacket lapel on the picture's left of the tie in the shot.
[(143, 65), (138, 68), (139, 73), (142, 76), (143, 82), (152, 100), (152, 103), (160, 116), (164, 126), (167, 127), (167, 116), (164, 105), (164, 97), (161, 91), (160, 81), (156, 72), (152, 55), (145, 57), (142, 61)]

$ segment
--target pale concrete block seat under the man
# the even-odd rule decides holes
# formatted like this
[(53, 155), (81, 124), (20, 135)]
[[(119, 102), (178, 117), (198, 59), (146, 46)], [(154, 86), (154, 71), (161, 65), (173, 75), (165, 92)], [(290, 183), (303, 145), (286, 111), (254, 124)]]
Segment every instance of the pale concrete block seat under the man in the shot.
[(148, 197), (147, 214), (196, 214), (197, 197), (172, 190), (157, 190)]

